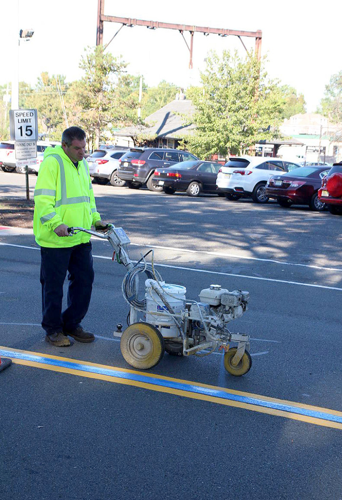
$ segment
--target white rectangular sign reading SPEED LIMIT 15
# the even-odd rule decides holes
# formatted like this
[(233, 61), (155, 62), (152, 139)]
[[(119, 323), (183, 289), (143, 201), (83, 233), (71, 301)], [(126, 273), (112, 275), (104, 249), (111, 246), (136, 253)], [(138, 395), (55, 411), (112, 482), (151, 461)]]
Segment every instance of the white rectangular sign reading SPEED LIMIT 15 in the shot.
[(12, 140), (37, 140), (37, 110), (11, 109), (9, 111), (9, 130)]

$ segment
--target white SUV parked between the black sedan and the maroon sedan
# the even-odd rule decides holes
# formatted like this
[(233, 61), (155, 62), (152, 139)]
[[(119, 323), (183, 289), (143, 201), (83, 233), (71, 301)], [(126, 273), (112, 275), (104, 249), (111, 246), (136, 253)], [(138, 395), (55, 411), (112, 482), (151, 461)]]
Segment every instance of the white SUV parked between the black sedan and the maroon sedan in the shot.
[(289, 172), (300, 165), (265, 156), (232, 156), (218, 172), (216, 185), (228, 199), (252, 196), (257, 203), (267, 203), (265, 186), (272, 175)]

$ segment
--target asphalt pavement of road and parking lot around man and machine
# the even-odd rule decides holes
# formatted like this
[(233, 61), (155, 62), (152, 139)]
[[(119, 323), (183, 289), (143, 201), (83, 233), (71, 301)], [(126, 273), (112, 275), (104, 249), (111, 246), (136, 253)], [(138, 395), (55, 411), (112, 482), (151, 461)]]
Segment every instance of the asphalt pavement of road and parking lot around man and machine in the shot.
[[(1, 171), (0, 184), (25, 195), (24, 175)], [(341, 499), (341, 217), (93, 188), (102, 219), (129, 235), (131, 258), (152, 248), (163, 279), (186, 286), (187, 298), (211, 283), (250, 292), (230, 326), (251, 335), (253, 365), (232, 377), (221, 352), (165, 353), (147, 371), (151, 383), (139, 378), (113, 337), (126, 324), (125, 269), (95, 239), (84, 326), (96, 340), (54, 348), (40, 327), (34, 237), (0, 229), (0, 354), (21, 356), (0, 372), (0, 497)]]

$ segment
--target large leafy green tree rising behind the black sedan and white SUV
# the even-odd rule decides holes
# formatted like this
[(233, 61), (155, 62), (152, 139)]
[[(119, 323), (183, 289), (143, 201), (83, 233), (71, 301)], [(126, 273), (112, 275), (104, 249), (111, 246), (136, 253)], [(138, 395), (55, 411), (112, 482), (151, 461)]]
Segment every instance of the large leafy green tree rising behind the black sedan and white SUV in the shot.
[(188, 148), (201, 158), (212, 153), (241, 154), (261, 139), (278, 135), (284, 100), (276, 81), (268, 78), (263, 65), (249, 52), (211, 52), (202, 87), (188, 96), (196, 111), (195, 132)]

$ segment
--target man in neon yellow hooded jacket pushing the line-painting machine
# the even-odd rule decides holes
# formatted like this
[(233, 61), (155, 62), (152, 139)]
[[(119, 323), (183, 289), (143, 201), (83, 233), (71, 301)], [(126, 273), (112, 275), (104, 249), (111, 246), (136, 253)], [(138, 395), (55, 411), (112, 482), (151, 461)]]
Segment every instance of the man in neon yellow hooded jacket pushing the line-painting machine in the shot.
[[(67, 346), (70, 335), (92, 342), (94, 335), (80, 323), (85, 316), (94, 279), (90, 235), (68, 237), (68, 227), (104, 229), (96, 210), (89, 168), (84, 159), (85, 132), (64, 130), (62, 145), (47, 147), (34, 189), (33, 232), (40, 245), (42, 322), (45, 340)], [(67, 308), (62, 312), (63, 283), (68, 272)]]

